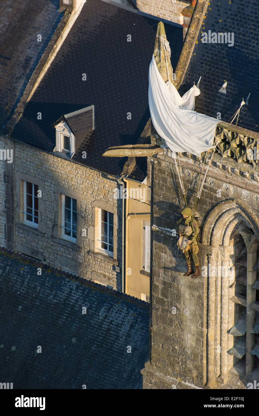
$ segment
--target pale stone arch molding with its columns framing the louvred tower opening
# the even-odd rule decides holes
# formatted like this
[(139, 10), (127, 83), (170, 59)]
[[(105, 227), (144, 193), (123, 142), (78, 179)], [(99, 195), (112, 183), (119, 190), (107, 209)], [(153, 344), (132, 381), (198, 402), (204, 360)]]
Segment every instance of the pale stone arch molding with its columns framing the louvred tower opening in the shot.
[[(232, 358), (228, 350), (233, 346), (233, 337), (228, 330), (234, 324), (234, 304), (231, 297), (234, 295), (232, 285), (229, 285), (228, 276), (225, 276), (225, 267), (228, 269), (230, 261), (229, 241), (233, 231), (237, 230), (243, 237), (247, 248), (247, 282), (252, 287), (256, 278), (253, 265), (256, 262), (257, 246), (259, 241), (259, 220), (253, 212), (240, 199), (229, 199), (219, 203), (207, 216), (202, 232), (202, 247), (205, 250), (203, 264), (205, 269), (220, 265), (220, 275), (207, 275), (207, 309), (204, 322), (207, 323), (207, 382), (213, 386), (219, 377), (223, 384), (228, 383), (229, 371), (232, 369)], [(224, 269), (224, 270), (223, 270)], [(223, 271), (222, 271), (223, 270)], [(252, 298), (251, 298), (252, 299)], [(247, 322), (251, 320), (251, 311), (248, 311)], [(246, 373), (252, 369), (247, 360)], [(213, 388), (213, 387), (212, 387)]]

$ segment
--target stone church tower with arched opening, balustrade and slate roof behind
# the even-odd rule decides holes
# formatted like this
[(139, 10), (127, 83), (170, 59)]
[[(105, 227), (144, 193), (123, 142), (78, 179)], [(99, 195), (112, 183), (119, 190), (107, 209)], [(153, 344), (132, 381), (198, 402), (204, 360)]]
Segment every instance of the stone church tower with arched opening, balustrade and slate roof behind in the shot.
[[(176, 222), (185, 201), (175, 162), (151, 127), (151, 143), (164, 151), (150, 157), (150, 360), (141, 371), (144, 389), (246, 389), (259, 381), (259, 107), (252, 97), (259, 81), (252, 64), (242, 67), (245, 40), (231, 18), (242, 17), (242, 1), (230, 3), (197, 1), (173, 81), (183, 95), (201, 76), (195, 111), (219, 120), (217, 151), (196, 210), (200, 277), (194, 280), (183, 276), (186, 263), (177, 248)], [(229, 42), (201, 42), (212, 27), (216, 34), (233, 32), (239, 39), (235, 48), (229, 47), (231, 33)], [(258, 34), (250, 32), (256, 40)], [(250, 59), (256, 53), (251, 47)], [(229, 123), (243, 95), (248, 98), (239, 118)], [(192, 209), (209, 158), (205, 152), (179, 154)]]

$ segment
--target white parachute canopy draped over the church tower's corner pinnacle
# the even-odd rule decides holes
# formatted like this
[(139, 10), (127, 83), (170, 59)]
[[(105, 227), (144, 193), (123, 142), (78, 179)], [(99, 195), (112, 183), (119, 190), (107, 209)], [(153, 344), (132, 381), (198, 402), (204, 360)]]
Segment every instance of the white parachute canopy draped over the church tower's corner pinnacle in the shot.
[(155, 130), (174, 152), (194, 155), (212, 149), (217, 119), (194, 111), (195, 85), (180, 97), (171, 82), (165, 83), (153, 55), (149, 65), (148, 102)]

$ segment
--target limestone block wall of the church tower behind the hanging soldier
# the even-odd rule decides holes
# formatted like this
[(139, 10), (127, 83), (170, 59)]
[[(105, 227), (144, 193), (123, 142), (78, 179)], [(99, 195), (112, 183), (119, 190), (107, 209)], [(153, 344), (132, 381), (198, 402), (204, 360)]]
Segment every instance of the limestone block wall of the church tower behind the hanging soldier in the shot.
[[(185, 157), (182, 158), (181, 165), (187, 202), (192, 207), (200, 180), (198, 166), (201, 165), (198, 161)], [(218, 210), (220, 216), (229, 210), (229, 214), (225, 214), (225, 217), (229, 217), (223, 217), (226, 224), (233, 220), (236, 213), (239, 217), (247, 218), (258, 240), (258, 200), (256, 171), (248, 164), (237, 164), (230, 158), (223, 159), (216, 155), (197, 208), (200, 216), (201, 268), (203, 265), (207, 267), (213, 256), (210, 244), (214, 243), (210, 243), (210, 238), (207, 245), (204, 243), (206, 238), (203, 237), (202, 240), (204, 234), (212, 232), (213, 225), (205, 227), (206, 233), (203, 229), (210, 213)], [(165, 153), (158, 155), (154, 159), (151, 224), (175, 229), (183, 207), (184, 199), (172, 159)], [(236, 222), (238, 220), (237, 217)], [(220, 346), (225, 348), (220, 340), (220, 332), (223, 333), (220, 307), (229, 300), (224, 299), (222, 294), (221, 278), (213, 280), (200, 276), (193, 280), (183, 277), (187, 266), (182, 252), (177, 249), (178, 237), (155, 230), (152, 233), (151, 365), (147, 363), (142, 370), (143, 388), (203, 388), (210, 379), (213, 381), (220, 376), (224, 364), (220, 349)], [(225, 248), (221, 248), (224, 260)], [(226, 326), (226, 331), (227, 329)], [(225, 353), (227, 354), (227, 347)], [(230, 381), (225, 380), (227, 383)], [(244, 388), (237, 379), (231, 383), (232, 387)], [(212, 388), (216, 388), (215, 384)]]

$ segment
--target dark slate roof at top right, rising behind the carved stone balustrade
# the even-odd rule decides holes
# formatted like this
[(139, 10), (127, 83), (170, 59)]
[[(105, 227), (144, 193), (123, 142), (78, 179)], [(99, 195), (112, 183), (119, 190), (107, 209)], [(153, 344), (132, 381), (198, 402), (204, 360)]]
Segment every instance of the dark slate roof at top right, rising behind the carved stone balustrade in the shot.
[[(251, 0), (212, 0), (197, 37), (185, 79), (184, 93), (200, 75), (201, 94), (195, 110), (229, 122), (249, 92), (249, 105), (241, 109), (238, 125), (259, 131), (259, 3)], [(201, 42), (201, 32), (233, 32), (234, 46)], [(227, 81), (227, 94), (218, 92)]]

